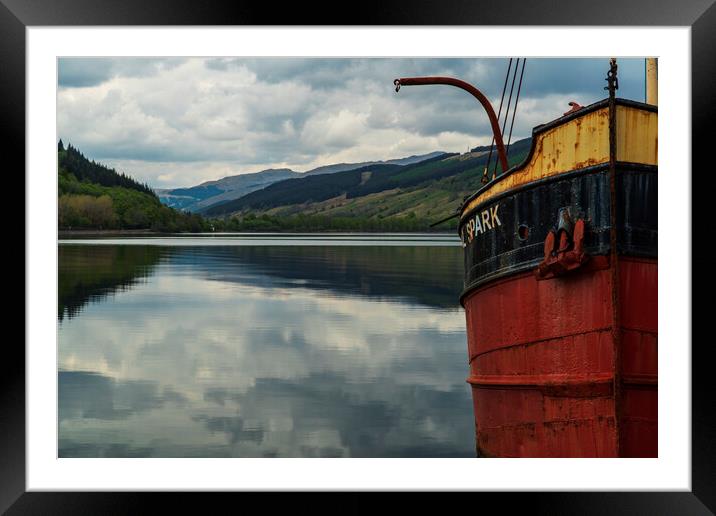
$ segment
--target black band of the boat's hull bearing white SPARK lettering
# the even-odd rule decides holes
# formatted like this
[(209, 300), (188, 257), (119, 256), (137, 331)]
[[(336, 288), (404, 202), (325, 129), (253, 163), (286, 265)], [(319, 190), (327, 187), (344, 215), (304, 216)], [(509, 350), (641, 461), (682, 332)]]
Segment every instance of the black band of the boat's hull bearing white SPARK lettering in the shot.
[[(657, 256), (657, 167), (617, 163), (617, 251)], [(458, 228), (465, 249), (465, 293), (488, 281), (534, 268), (560, 210), (586, 222), (584, 249), (610, 252), (609, 164), (534, 181), (476, 206)], [(463, 295), (464, 295), (463, 294)]]

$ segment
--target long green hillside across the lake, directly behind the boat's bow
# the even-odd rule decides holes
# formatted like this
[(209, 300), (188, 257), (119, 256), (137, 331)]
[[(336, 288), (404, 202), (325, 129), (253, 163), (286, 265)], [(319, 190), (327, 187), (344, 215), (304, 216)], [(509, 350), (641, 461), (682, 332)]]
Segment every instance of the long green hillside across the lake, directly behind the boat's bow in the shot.
[[(510, 166), (526, 158), (530, 142), (511, 145)], [(493, 153), (491, 163), (495, 159)], [(454, 229), (456, 219), (430, 225), (454, 214), (466, 196), (482, 187), (486, 161), (487, 154), (478, 151), (403, 167), (367, 166), (330, 177), (290, 179), (206, 213), (223, 215), (216, 223), (239, 231), (444, 231)]]

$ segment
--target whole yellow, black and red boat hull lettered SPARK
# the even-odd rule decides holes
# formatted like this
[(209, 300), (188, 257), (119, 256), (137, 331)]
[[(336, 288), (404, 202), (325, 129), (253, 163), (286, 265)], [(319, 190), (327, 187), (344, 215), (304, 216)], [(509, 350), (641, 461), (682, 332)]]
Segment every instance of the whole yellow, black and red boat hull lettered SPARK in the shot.
[(465, 201), (478, 455), (657, 456), (656, 127), (594, 104)]

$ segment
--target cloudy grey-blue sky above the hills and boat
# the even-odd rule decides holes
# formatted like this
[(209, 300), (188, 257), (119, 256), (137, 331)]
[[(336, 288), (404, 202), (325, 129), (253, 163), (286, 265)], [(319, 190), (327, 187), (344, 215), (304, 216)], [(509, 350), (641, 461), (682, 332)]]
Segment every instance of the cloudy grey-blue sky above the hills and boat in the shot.
[[(644, 60), (619, 59), (618, 96), (644, 99)], [(448, 75), (499, 105), (508, 59), (60, 58), (58, 137), (155, 188), (268, 168), (489, 145), (466, 92), (393, 79)], [(605, 98), (607, 58), (528, 59), (515, 139)], [(518, 77), (519, 80), (519, 77)], [(509, 85), (508, 85), (509, 92)]]

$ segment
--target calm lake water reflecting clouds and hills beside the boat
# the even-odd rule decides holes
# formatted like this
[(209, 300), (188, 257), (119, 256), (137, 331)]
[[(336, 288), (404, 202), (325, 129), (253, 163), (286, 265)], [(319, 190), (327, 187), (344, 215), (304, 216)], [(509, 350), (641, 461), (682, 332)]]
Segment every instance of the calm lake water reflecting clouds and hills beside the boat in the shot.
[(475, 457), (452, 235), (62, 240), (60, 457)]

